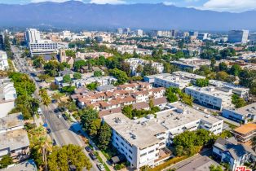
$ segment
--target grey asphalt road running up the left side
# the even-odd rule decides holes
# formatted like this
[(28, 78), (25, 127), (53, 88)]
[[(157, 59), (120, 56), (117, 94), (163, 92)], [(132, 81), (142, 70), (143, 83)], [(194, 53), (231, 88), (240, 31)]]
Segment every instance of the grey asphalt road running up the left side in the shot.
[[(11, 50), (15, 54), (15, 68), (19, 72), (29, 74), (29, 77), (34, 81), (34, 77), (30, 76), (31, 71), (30, 68), (26, 65), (26, 60), (20, 58), (21, 53), (15, 46), (11, 46)], [(38, 98), (39, 85), (38, 82), (34, 82), (37, 86), (37, 90), (35, 91), (34, 96), (35, 98)], [(79, 138), (72, 129), (70, 129), (71, 125), (65, 121), (63, 117), (58, 118), (57, 114), (54, 112), (56, 108), (54, 103), (51, 103), (48, 107), (45, 107), (41, 104), (40, 107), (42, 108), (42, 120), (47, 124), (48, 128), (51, 129), (50, 136), (55, 140), (57, 145), (64, 146), (68, 144), (74, 144), (80, 147), (85, 147), (86, 144), (82, 142), (82, 139)], [(90, 159), (90, 156), (85, 150), (84, 153)], [(90, 163), (92, 164), (92, 168), (90, 169), (91, 171), (99, 170), (94, 160), (90, 159)]]

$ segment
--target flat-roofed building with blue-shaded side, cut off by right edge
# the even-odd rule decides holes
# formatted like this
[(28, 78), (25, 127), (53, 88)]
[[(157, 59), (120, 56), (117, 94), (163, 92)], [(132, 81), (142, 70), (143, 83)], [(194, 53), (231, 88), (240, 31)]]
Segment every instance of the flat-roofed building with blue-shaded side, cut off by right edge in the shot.
[(240, 108), (224, 107), (222, 116), (244, 124), (256, 121), (256, 103)]

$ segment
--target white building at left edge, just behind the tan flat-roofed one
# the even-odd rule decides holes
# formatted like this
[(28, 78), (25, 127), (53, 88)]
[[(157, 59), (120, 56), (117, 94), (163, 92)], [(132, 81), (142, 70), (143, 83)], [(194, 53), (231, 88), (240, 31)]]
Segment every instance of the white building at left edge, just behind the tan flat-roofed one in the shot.
[(17, 98), (16, 90), (10, 79), (0, 80), (0, 118), (8, 115), (8, 112), (15, 107)]

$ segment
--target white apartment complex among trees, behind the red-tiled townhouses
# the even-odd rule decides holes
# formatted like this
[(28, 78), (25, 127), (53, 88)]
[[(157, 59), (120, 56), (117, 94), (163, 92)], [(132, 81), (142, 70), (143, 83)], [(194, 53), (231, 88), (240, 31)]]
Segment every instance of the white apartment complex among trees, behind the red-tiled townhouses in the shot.
[(152, 68), (156, 68), (158, 73), (161, 73), (164, 71), (164, 65), (161, 63), (153, 62), (153, 61), (148, 61), (144, 59), (138, 59), (138, 58), (130, 58), (125, 60), (126, 63), (130, 64), (130, 70), (131, 70), (131, 75), (133, 76), (138, 76), (140, 73), (138, 73), (136, 70), (139, 65), (142, 67), (145, 64), (152, 64)]

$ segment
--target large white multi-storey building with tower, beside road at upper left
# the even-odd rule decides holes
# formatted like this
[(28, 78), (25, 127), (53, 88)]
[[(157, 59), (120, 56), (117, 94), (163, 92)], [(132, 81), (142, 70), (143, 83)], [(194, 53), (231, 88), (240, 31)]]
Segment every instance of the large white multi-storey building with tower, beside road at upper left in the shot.
[(25, 36), (31, 55), (52, 54), (57, 53), (61, 48), (68, 48), (66, 42), (42, 39), (41, 33), (37, 29), (27, 29)]

